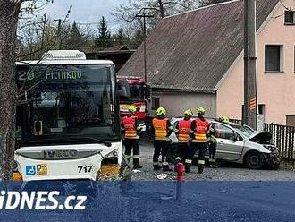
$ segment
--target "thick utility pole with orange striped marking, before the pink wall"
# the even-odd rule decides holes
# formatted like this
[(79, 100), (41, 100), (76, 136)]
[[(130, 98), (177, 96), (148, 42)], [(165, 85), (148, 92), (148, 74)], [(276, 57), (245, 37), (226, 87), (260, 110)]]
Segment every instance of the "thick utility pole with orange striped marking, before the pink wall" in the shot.
[(243, 124), (257, 129), (256, 0), (244, 0)]

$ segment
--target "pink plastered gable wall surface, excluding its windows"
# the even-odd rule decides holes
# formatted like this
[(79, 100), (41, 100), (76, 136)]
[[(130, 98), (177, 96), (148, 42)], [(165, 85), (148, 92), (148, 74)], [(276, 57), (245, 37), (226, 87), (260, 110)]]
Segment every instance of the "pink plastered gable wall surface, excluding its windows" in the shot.
[[(295, 9), (294, 0), (283, 3)], [(278, 4), (271, 15), (273, 18), (257, 32), (257, 99), (258, 104), (265, 104), (265, 122), (275, 124), (286, 124), (286, 115), (295, 115), (295, 26), (284, 25), (284, 11), (282, 4)], [(265, 45), (268, 44), (283, 45), (283, 73), (265, 73)], [(240, 56), (217, 90), (217, 115), (241, 118), (243, 70)]]

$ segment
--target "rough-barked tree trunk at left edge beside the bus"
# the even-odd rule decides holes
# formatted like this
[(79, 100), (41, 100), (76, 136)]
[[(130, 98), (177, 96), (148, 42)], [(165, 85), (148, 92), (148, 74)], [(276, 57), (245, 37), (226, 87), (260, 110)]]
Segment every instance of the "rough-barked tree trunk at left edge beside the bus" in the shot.
[[(0, 0), (0, 167), (3, 180), (13, 176), (14, 132), (17, 90), (15, 84), (17, 27), (21, 14), (32, 14), (40, 4), (49, 0), (30, 1), (21, 8), (24, 0)], [(41, 5), (41, 6), (42, 6)], [(28, 24), (28, 23), (27, 23)], [(25, 27), (23, 27), (25, 29)]]

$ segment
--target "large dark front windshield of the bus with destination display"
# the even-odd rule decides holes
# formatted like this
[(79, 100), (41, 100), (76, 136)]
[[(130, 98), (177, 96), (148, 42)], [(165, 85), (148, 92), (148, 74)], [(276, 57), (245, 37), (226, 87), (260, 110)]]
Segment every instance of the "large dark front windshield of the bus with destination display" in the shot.
[(119, 138), (113, 65), (24, 65), (17, 67), (17, 78), (22, 138)]

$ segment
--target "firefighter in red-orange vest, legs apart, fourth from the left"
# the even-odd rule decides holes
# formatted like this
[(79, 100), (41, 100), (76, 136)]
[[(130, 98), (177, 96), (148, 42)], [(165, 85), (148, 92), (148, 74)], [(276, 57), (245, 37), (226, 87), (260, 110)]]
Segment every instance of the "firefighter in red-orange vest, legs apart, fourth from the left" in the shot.
[(190, 154), (185, 160), (185, 171), (190, 172), (192, 159), (198, 149), (198, 174), (202, 174), (205, 166), (205, 154), (207, 149), (206, 132), (209, 130), (209, 122), (204, 118), (205, 109), (197, 109), (198, 118), (193, 120), (190, 125)]

